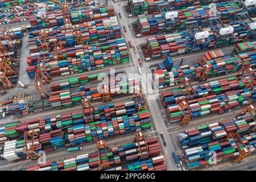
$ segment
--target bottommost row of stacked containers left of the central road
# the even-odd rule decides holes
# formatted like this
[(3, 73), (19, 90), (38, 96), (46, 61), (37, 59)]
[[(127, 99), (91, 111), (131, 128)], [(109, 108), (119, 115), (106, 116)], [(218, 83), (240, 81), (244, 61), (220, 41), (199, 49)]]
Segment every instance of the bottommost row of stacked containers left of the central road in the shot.
[[(152, 138), (146, 140), (148, 145), (148, 159), (139, 161), (141, 153), (137, 142), (127, 143), (121, 147), (109, 148), (101, 155), (101, 161), (108, 159), (109, 169), (106, 171), (164, 171), (163, 156), (160, 156), (160, 144), (158, 139)], [(87, 171), (100, 167), (100, 156), (97, 152), (78, 155), (75, 158), (57, 160), (37, 166), (26, 168), (26, 171)]]

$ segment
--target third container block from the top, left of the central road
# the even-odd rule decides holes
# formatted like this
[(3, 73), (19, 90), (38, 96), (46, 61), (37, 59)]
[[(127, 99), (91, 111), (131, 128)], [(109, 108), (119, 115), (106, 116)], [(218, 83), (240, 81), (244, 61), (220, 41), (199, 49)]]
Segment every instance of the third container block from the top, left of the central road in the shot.
[[(75, 72), (84, 72), (108, 67), (109, 65), (129, 62), (129, 52), (125, 39), (113, 39), (108, 42), (65, 49), (66, 60), (53, 60), (46, 63), (46, 70), (51, 76), (65, 76)], [(36, 64), (38, 57), (33, 59)], [(30, 62), (32, 60), (28, 60)], [(27, 75), (34, 78), (36, 66), (26, 69)]]

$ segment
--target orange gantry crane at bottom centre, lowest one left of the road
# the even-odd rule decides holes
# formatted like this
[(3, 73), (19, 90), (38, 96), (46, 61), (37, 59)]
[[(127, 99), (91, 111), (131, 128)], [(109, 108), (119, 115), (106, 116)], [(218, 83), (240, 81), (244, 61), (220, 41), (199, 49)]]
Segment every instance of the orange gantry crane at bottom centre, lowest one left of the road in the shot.
[[(106, 146), (105, 140), (99, 140), (97, 142), (97, 148), (98, 148), (98, 157), (100, 158), (100, 163), (98, 166), (98, 170), (104, 170), (106, 168), (109, 168), (109, 159), (108, 159), (108, 151), (107, 148), (109, 148), (108, 146)], [(105, 154), (106, 159), (102, 160), (102, 155)], [(103, 156), (104, 157), (104, 156)]]

